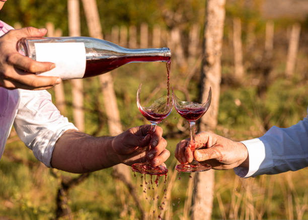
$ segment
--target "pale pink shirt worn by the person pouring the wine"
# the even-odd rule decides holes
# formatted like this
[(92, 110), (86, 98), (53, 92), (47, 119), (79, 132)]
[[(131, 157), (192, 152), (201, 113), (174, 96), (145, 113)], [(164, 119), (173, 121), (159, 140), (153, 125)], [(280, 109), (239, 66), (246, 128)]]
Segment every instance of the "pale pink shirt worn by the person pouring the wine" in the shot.
[[(13, 28), (0, 21), (0, 36)], [(63, 117), (46, 90), (7, 90), (0, 87), (0, 158), (12, 125), (34, 156), (47, 167), (57, 139), (67, 129), (77, 129)]]

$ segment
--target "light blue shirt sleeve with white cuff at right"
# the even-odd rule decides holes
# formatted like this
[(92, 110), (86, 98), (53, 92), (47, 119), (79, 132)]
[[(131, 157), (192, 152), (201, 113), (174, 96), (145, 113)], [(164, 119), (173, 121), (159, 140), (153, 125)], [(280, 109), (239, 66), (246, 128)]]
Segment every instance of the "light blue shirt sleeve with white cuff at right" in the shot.
[(262, 137), (242, 142), (248, 150), (249, 169), (234, 168), (240, 177), (277, 174), (307, 167), (308, 115), (291, 127), (273, 126)]

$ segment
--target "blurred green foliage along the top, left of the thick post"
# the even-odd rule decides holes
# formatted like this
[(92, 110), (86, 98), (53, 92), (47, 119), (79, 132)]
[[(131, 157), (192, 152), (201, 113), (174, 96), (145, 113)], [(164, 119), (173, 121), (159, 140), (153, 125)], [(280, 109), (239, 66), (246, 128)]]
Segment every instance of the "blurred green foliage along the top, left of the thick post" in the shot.
[[(66, 4), (66, 1), (61, 0), (10, 0), (0, 12), (0, 20), (11, 25), (18, 22), (22, 27), (44, 27), (46, 22), (52, 22), (56, 28), (60, 28), (63, 31), (64, 36), (67, 36)], [(113, 26), (138, 26), (141, 23), (148, 24), (150, 28), (155, 24), (168, 26), (163, 12), (169, 10), (178, 11), (180, 9), (180, 13), (187, 24), (200, 22), (203, 19), (203, 13), (198, 11), (204, 8), (204, 5), (205, 0), (97, 1), (104, 34), (109, 33)], [(82, 35), (86, 36), (88, 35), (88, 28), (81, 1), (80, 7)]]

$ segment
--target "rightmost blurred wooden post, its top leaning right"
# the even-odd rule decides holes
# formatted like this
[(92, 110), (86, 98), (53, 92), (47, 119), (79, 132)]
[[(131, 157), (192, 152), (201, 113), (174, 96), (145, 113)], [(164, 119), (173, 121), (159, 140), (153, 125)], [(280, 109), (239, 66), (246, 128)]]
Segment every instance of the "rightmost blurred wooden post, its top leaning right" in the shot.
[(291, 36), (289, 39), (288, 55), (286, 61), (285, 74), (288, 78), (294, 74), (294, 68), (296, 63), (296, 56), (298, 50), (298, 42), (300, 35), (300, 25), (298, 23), (293, 24), (291, 30)]

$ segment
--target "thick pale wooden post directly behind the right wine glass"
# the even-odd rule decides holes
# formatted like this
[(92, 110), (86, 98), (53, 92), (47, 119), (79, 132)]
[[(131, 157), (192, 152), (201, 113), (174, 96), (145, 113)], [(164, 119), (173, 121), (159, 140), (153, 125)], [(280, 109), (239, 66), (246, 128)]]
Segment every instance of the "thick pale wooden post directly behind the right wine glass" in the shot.
[[(217, 124), (220, 81), (221, 47), (225, 0), (208, 0), (204, 28), (204, 59), (201, 67), (201, 102), (206, 102), (209, 88), (212, 89), (212, 102), (200, 120), (200, 130), (213, 130)], [(214, 170), (197, 173), (194, 178), (195, 190), (192, 219), (211, 219), (214, 196)]]

